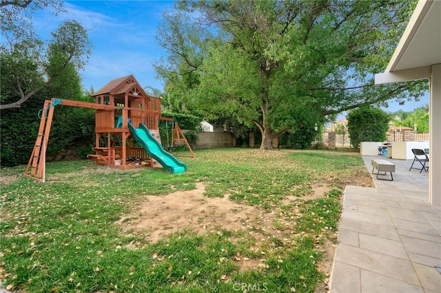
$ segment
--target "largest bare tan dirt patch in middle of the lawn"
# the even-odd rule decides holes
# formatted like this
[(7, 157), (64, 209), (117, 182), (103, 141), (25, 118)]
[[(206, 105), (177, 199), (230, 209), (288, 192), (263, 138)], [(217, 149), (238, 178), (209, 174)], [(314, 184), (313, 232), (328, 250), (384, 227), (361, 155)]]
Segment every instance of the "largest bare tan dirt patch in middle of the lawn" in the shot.
[(119, 224), (143, 232), (156, 242), (183, 228), (198, 233), (222, 229), (245, 229), (256, 215), (265, 212), (254, 206), (236, 204), (225, 197), (205, 197), (202, 183), (192, 191), (150, 196), (136, 211), (122, 217)]

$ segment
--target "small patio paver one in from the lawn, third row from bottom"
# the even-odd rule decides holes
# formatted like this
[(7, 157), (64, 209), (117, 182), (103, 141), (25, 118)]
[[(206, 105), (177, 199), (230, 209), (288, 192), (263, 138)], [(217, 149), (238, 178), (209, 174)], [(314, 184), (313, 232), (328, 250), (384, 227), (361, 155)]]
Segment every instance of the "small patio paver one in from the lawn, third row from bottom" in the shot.
[(374, 252), (409, 259), (401, 241), (384, 239), (372, 235), (360, 234), (360, 248)]

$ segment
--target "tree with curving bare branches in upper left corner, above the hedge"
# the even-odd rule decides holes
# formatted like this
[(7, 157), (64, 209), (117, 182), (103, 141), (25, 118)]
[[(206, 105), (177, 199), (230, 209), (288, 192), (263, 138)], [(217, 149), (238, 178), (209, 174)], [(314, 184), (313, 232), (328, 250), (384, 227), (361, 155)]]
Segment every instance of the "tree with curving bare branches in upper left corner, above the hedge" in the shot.
[[(1, 1), (0, 54), (2, 92), (0, 109), (20, 107), (23, 102), (52, 83), (66, 83), (70, 67), (78, 71), (88, 61), (92, 43), (76, 21), (65, 21), (41, 41), (32, 28), (32, 12), (52, 7), (62, 10), (59, 0)], [(7, 75), (3, 76), (3, 72)], [(6, 83), (6, 85), (3, 85)]]

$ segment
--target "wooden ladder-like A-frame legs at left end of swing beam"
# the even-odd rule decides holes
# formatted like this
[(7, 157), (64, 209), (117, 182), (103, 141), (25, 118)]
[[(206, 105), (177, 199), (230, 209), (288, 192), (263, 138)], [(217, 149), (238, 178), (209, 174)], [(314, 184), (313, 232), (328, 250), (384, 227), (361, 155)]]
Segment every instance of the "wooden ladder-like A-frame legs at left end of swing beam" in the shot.
[(54, 107), (58, 103), (58, 100), (45, 100), (43, 109), (39, 112), (39, 116), (41, 116), (39, 133), (37, 140), (35, 140), (28, 166), (26, 166), (25, 173), (23, 174), (39, 182), (45, 182), (46, 148), (48, 146), (52, 117), (54, 116)]

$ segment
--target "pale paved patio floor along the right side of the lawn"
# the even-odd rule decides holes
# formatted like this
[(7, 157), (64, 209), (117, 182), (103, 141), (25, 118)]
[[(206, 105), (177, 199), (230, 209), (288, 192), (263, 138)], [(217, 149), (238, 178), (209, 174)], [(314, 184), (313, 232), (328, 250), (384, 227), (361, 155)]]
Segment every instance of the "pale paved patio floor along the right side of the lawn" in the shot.
[(363, 156), (369, 172), (375, 158), (396, 164), (393, 181), (371, 173), (376, 188), (347, 186), (330, 292), (441, 292), (441, 207), (428, 204), (429, 173)]

